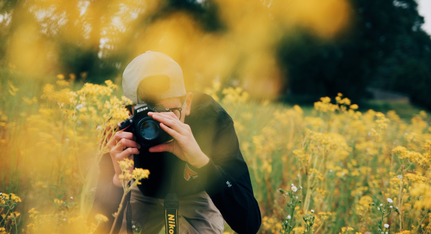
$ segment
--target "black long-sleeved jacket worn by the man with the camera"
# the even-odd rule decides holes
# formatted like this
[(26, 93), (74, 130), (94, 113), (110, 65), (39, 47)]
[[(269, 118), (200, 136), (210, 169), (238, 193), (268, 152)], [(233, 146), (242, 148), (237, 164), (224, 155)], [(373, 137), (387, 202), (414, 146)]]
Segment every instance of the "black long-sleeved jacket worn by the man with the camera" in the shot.
[[(203, 153), (210, 158), (209, 163), (199, 169), (189, 165), (197, 172), (197, 178), (187, 181), (184, 176), (186, 162), (168, 152), (149, 153), (141, 149), (141, 153), (134, 156), (134, 166), (149, 169), (150, 176), (141, 180), (138, 188), (145, 196), (163, 199), (174, 173), (174, 189), (180, 199), (205, 190), (234, 231), (256, 233), (261, 223), (259, 205), (253, 195), (247, 164), (240, 152), (231, 117), (211, 96), (193, 92), (191, 114), (185, 118), (185, 123), (191, 127)], [(171, 160), (174, 160), (173, 169)], [(102, 233), (109, 232), (114, 220), (112, 213), (118, 209), (123, 194), (122, 188), (112, 183), (114, 175), (112, 160), (107, 154), (100, 162), (100, 177), (89, 217), (93, 221), (94, 214), (102, 213), (109, 218), (106, 225), (99, 225)]]

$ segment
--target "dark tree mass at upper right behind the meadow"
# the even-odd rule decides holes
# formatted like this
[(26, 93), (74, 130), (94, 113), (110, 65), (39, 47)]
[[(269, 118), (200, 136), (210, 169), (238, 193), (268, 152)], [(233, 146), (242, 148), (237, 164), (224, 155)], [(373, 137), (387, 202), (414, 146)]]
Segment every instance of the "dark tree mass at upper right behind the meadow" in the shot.
[(285, 100), (312, 102), (342, 92), (356, 102), (367, 86), (404, 92), (431, 108), (431, 40), (415, 0), (351, 0), (353, 27), (330, 42), (306, 32), (279, 49), (287, 68)]

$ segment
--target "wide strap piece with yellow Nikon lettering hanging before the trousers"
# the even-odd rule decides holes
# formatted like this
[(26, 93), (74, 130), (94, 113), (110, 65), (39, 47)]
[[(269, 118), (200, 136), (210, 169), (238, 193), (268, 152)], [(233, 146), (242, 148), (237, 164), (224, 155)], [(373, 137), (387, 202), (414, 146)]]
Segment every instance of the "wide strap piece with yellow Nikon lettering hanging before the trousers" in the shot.
[(174, 158), (172, 155), (171, 161), (171, 188), (169, 189), (168, 195), (165, 197), (165, 233), (166, 234), (178, 234), (178, 208), (180, 201), (178, 200), (177, 194), (174, 192)]

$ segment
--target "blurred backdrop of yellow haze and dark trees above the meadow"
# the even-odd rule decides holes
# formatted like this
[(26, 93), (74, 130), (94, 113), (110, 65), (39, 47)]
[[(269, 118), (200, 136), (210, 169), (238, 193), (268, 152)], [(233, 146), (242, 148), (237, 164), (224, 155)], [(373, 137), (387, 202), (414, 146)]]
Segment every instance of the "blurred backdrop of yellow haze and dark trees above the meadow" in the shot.
[(181, 65), (187, 89), (216, 80), (258, 100), (342, 92), (363, 108), (430, 109), (430, 2), (1, 0), (1, 75), (119, 83), (152, 50)]

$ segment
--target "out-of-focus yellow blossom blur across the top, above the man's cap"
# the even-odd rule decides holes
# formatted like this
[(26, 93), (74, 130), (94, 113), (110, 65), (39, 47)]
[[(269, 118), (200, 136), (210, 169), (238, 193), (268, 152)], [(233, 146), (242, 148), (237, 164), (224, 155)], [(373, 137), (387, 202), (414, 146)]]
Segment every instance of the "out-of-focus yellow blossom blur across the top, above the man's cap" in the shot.
[(19, 71), (50, 74), (62, 66), (59, 50), (67, 43), (96, 49), (101, 58), (115, 51), (127, 57), (125, 63), (152, 50), (181, 65), (189, 89), (229, 78), (253, 96), (273, 99), (286, 84), (277, 45), (298, 28), (328, 40), (346, 29), (350, 19), (347, 0), (214, 0), (220, 27), (208, 31), (190, 13), (163, 13), (166, 4), (28, 1), (26, 12), (16, 13), (24, 23), (17, 24), (11, 37), (9, 62)]

